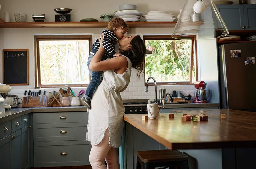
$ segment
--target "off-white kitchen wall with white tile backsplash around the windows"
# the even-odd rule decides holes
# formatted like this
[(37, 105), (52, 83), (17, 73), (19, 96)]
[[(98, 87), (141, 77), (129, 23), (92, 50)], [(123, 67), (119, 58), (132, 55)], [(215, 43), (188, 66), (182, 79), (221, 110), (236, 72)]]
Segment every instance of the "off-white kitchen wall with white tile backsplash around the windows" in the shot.
[[(130, 0), (129, 4), (135, 4), (138, 6), (138, 10), (141, 10), (143, 13), (147, 11), (172, 11), (177, 15), (179, 13), (179, 9), (183, 7), (185, 4), (185, 0), (160, 0), (157, 1), (150, 0)], [(0, 0), (0, 4), (2, 5), (2, 9), (0, 10), (0, 18), (3, 18), (4, 11), (9, 11), (10, 15), (13, 16), (15, 12), (25, 12), (28, 13), (28, 21), (32, 21), (32, 14), (41, 14), (46, 13), (47, 21), (54, 21), (55, 12), (53, 8), (60, 7), (68, 7), (73, 8), (72, 20), (79, 21), (83, 18), (96, 18), (99, 19), (100, 14), (104, 13), (113, 13), (113, 11), (118, 10), (118, 6), (120, 4), (125, 4), (126, 1), (119, 0), (118, 2), (113, 0), (108, 1), (99, 1), (99, 0), (87, 0), (87, 1), (79, 1), (79, 0)], [(116, 4), (116, 5), (113, 5)], [(40, 7), (40, 8), (39, 8)], [(19, 10), (17, 10), (19, 9)], [(97, 10), (100, 11), (98, 12)], [(96, 11), (96, 12), (95, 12)], [(11, 17), (11, 21), (14, 21), (14, 17)], [(34, 35), (35, 34), (91, 34), (93, 38), (98, 38), (99, 33), (103, 30), (103, 28), (36, 28), (36, 29), (22, 29), (22, 28), (4, 28), (0, 29), (0, 50), (3, 49), (19, 49), (25, 48), (29, 49), (29, 86), (12, 86), (11, 94), (18, 94), (20, 98), (22, 98), (24, 94), (24, 90), (34, 91)], [(128, 31), (128, 34), (171, 34), (173, 28), (131, 28)], [(215, 42), (215, 44), (214, 44)], [(216, 40), (211, 41), (211, 48), (216, 48)], [(214, 46), (215, 45), (215, 46)], [(200, 48), (198, 45), (199, 53), (204, 54), (204, 52), (209, 51), (208, 48)], [(0, 57), (2, 57), (2, 52), (0, 53)], [(198, 55), (200, 62), (204, 62), (204, 59), (200, 59), (201, 56)], [(202, 57), (205, 57), (202, 56)], [(208, 82), (208, 76), (205, 73), (200, 73), (201, 66), (199, 65), (199, 80), (205, 80), (209, 86), (216, 85), (216, 80), (218, 82), (218, 78), (216, 79), (217, 74), (217, 52), (215, 50), (212, 51), (212, 54), (209, 55), (214, 60), (211, 71), (214, 74), (214, 82), (211, 80)], [(2, 59), (1, 59), (2, 60)], [(208, 62), (210, 64), (211, 62)], [(204, 68), (207, 67), (207, 64), (204, 63)], [(2, 68), (2, 62), (0, 62), (0, 66)], [(205, 69), (203, 69), (205, 71)], [(2, 69), (0, 69), (0, 82), (2, 82)], [(212, 83), (213, 82), (213, 83)], [(212, 83), (212, 85), (211, 85)], [(173, 90), (180, 90), (183, 94), (188, 95), (194, 93), (194, 85), (175, 85), (175, 86), (158, 86), (158, 88), (164, 87), (166, 88), (166, 92), (172, 93)], [(74, 91), (78, 93), (82, 88), (74, 88)], [(219, 92), (215, 88), (212, 88), (215, 92)], [(39, 89), (36, 89), (38, 91)], [(47, 92), (52, 91), (54, 89), (46, 89)], [(55, 89), (58, 90), (58, 89)], [(128, 88), (121, 93), (123, 99), (154, 99), (155, 91), (153, 86), (149, 86), (149, 92), (145, 93), (145, 85), (144, 85), (144, 77), (140, 79), (136, 75), (136, 71), (132, 72), (131, 83)], [(218, 95), (219, 93), (217, 93)], [(216, 97), (217, 98), (217, 97)], [(218, 102), (218, 99), (214, 99), (214, 102)]]

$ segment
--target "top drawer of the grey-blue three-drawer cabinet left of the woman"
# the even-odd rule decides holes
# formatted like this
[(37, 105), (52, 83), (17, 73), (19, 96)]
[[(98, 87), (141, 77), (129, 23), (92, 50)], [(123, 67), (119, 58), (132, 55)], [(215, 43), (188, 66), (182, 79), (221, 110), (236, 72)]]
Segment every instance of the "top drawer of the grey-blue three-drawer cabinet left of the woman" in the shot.
[(34, 124), (88, 122), (87, 112), (34, 113)]

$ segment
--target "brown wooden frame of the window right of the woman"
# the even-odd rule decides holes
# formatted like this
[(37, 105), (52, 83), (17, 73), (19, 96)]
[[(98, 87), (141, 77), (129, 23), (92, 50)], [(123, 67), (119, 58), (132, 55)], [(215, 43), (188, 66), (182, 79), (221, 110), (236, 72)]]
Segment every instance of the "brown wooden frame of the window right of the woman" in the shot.
[[(171, 35), (145, 35), (143, 36), (144, 44), (146, 45), (146, 40), (178, 40), (172, 38)], [(192, 82), (193, 71), (191, 71), (194, 67), (193, 61), (195, 63), (195, 74), (196, 74), (196, 81), (198, 80), (198, 65), (197, 65), (197, 44), (196, 44), (196, 36), (191, 36), (191, 53), (190, 53), (190, 69), (189, 69), (189, 81), (184, 82), (156, 82), (157, 85), (194, 85)], [(194, 50), (195, 49), (195, 50)], [(194, 60), (195, 55), (195, 60)], [(145, 62), (145, 58), (144, 58)], [(146, 85), (146, 72), (144, 69), (144, 83)], [(148, 85), (153, 86), (153, 82), (149, 82)]]

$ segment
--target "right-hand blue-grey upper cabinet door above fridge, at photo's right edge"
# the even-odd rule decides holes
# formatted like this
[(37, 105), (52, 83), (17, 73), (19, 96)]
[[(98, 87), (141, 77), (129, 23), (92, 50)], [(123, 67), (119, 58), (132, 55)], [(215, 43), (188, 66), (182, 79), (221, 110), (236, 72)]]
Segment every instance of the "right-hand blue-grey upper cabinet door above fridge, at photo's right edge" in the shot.
[(256, 5), (243, 6), (245, 30), (256, 30)]

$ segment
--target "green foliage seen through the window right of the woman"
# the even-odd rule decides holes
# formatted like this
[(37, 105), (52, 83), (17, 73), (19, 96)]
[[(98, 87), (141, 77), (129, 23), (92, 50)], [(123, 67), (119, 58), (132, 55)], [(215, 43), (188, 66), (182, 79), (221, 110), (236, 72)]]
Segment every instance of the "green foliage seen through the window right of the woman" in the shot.
[(152, 76), (157, 82), (190, 81), (190, 40), (146, 40), (145, 43), (152, 51), (145, 57), (146, 79)]

